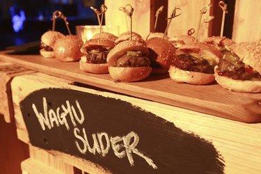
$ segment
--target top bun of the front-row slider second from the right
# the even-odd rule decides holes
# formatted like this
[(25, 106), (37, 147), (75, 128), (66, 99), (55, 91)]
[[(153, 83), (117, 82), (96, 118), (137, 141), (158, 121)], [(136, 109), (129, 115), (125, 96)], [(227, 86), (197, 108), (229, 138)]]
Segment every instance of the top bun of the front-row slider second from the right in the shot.
[(197, 42), (196, 44), (183, 45), (177, 49), (175, 54), (200, 54), (203, 58), (212, 58), (216, 64), (219, 63), (219, 59), (223, 56), (216, 47), (200, 42)]

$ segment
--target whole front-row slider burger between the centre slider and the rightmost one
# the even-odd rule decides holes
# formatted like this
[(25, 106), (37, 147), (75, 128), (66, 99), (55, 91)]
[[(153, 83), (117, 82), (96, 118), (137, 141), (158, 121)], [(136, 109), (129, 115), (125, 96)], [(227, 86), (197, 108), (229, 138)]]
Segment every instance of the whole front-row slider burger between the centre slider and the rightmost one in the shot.
[(203, 43), (183, 45), (175, 52), (168, 70), (171, 79), (188, 84), (209, 84), (214, 81), (214, 66), (222, 58), (215, 47)]

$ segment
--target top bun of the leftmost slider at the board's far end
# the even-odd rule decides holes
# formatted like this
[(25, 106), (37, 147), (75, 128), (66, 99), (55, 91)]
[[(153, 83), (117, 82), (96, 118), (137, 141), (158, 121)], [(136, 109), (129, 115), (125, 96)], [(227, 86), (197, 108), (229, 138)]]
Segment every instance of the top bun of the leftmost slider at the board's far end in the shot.
[(58, 38), (64, 38), (65, 35), (58, 31), (47, 31), (41, 36), (41, 42), (49, 47), (53, 47)]

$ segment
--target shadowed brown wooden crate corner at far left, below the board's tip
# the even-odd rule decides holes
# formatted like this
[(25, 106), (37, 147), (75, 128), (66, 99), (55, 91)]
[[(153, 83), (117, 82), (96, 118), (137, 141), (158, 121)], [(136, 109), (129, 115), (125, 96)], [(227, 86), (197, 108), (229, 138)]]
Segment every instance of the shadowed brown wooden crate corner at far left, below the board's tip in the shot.
[(34, 72), (13, 63), (0, 62), (0, 113), (3, 114), (6, 122), (13, 120), (13, 105), (10, 90), (10, 81), (13, 77), (21, 74)]

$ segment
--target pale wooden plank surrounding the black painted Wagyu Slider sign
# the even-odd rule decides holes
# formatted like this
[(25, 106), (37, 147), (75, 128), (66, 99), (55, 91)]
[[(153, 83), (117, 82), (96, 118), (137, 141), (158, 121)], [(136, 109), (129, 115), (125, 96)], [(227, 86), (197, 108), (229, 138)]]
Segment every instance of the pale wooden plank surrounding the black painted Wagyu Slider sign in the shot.
[[(63, 81), (63, 82), (61, 82)], [(63, 84), (64, 83), (64, 84)], [(27, 88), (27, 86), (31, 86)], [(94, 93), (106, 97), (118, 98), (123, 101), (131, 102), (135, 106), (141, 107), (145, 111), (155, 113), (156, 116), (164, 118), (169, 122), (173, 122), (185, 132), (193, 132), (203, 139), (211, 141), (216, 150), (222, 155), (225, 162), (224, 173), (260, 173), (261, 161), (261, 123), (246, 124), (243, 122), (235, 122), (223, 118), (209, 116), (204, 113), (189, 111), (175, 106), (160, 104), (148, 100), (141, 100), (125, 95), (117, 95), (88, 88), (81, 88), (70, 85), (70, 81), (64, 81), (56, 77), (49, 77), (46, 74), (26, 74), (21, 77), (15, 77), (12, 82), (12, 89), (22, 88), (22, 94), (13, 93), (15, 105), (19, 101), (40, 88), (70, 88), (80, 90), (86, 93)], [(15, 118), (22, 118), (19, 113), (19, 107), (15, 107)], [(22, 120), (22, 119), (20, 119)], [(20, 124), (21, 126), (23, 124)], [(155, 125), (157, 126), (157, 125)], [(26, 127), (19, 129), (26, 129)], [(27, 132), (24, 131), (24, 134)], [(25, 136), (24, 136), (25, 137)], [(52, 153), (52, 152), (51, 152)], [(83, 169), (86, 161), (82, 159), (74, 159), (72, 157), (63, 157), (65, 154), (53, 152), (57, 158), (63, 158), (66, 163)], [(66, 156), (66, 155), (65, 155)], [(85, 164), (85, 165), (84, 165)], [(85, 171), (85, 169), (84, 169)], [(86, 171), (88, 168), (86, 167)]]

